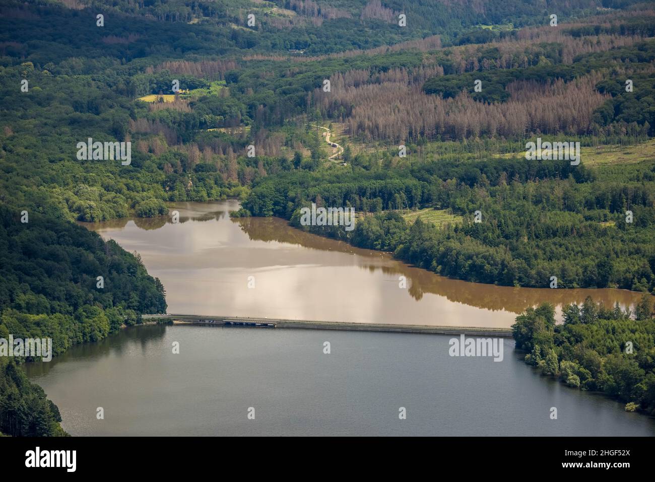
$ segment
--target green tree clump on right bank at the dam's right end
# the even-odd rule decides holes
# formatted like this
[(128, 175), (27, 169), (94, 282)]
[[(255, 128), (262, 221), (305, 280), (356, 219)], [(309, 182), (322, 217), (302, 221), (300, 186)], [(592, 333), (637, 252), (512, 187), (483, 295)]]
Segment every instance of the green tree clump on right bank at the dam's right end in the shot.
[(563, 308), (555, 324), (552, 305), (529, 308), (512, 325), (525, 362), (571, 387), (605, 392), (626, 410), (655, 415), (655, 318), (644, 297), (635, 312), (607, 308), (591, 298)]

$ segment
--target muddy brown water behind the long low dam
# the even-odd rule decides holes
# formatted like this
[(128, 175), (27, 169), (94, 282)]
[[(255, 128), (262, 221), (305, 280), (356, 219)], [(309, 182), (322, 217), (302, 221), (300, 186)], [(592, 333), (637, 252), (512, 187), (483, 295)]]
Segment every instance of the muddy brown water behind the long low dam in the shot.
[[(180, 223), (122, 219), (86, 224), (128, 251), (166, 287), (168, 312), (299, 320), (508, 327), (527, 306), (598, 301), (634, 305), (620, 289), (533, 289), (468, 283), (409, 267), (387, 253), (288, 227), (232, 220), (236, 201), (182, 203)], [(254, 287), (248, 287), (253, 276)], [(400, 288), (405, 276), (406, 288)], [(252, 286), (252, 285), (251, 285)]]

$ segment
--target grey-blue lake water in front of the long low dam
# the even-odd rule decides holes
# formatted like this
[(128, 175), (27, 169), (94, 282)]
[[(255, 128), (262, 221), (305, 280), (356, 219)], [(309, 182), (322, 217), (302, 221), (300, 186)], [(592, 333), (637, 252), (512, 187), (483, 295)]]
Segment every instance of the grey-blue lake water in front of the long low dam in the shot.
[[(451, 357), (449, 339), (144, 326), (31, 364), (28, 373), (73, 435), (655, 434), (651, 418), (626, 413), (621, 403), (540, 377), (509, 339), (502, 362)], [(323, 353), (324, 341), (331, 354)], [(104, 420), (96, 419), (97, 407)]]

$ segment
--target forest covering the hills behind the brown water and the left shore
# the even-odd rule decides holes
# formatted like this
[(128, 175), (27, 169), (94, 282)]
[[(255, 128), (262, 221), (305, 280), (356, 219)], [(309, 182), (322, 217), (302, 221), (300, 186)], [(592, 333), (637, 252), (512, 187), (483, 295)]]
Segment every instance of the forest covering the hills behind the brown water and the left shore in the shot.
[[(353, 207), (354, 231), (310, 229), (444, 276), (652, 293), (654, 20), (633, 0), (4, 1), (0, 338), (57, 354), (164, 312), (138, 255), (73, 221), (227, 197), (301, 229), (312, 202)], [(538, 137), (580, 165), (525, 160)], [(130, 162), (76, 157), (87, 139)], [(588, 162), (608, 149), (646, 153)], [(423, 208), (462, 221), (403, 218)], [(60, 420), (0, 359), (0, 432)]]

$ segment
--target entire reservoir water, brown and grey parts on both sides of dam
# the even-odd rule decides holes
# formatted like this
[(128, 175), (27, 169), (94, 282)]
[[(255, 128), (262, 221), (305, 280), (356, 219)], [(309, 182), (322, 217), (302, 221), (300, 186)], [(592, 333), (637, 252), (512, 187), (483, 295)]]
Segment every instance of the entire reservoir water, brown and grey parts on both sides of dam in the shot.
[[(179, 224), (162, 218), (87, 226), (141, 254), (166, 287), (169, 312), (496, 327), (542, 301), (561, 305), (591, 294), (626, 306), (640, 297), (448, 280), (280, 219), (233, 221), (227, 213), (236, 208), (232, 201), (185, 203), (176, 206)], [(398, 287), (399, 276), (406, 288)], [(449, 339), (143, 326), (26, 369), (73, 435), (655, 434), (652, 418), (540, 377), (509, 339), (502, 362), (450, 357)], [(325, 341), (331, 354), (323, 353)], [(96, 419), (97, 407), (104, 420)], [(249, 407), (255, 420), (247, 418)]]

